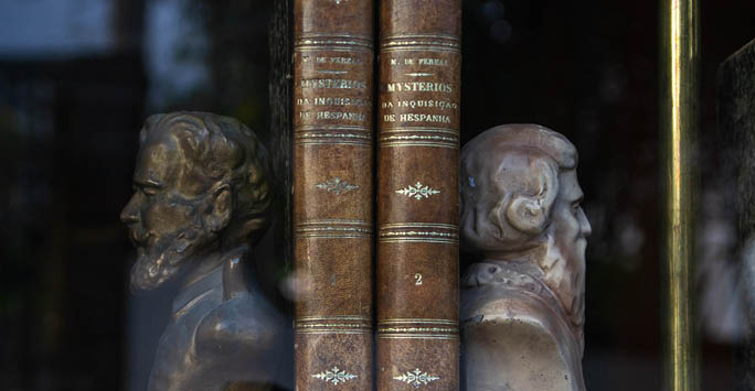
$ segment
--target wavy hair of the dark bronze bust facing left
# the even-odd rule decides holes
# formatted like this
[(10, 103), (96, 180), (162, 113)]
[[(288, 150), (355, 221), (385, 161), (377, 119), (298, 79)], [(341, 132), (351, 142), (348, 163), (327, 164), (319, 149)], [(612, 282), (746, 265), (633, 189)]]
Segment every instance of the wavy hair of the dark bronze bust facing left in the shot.
[(224, 246), (254, 245), (269, 225), (270, 186), (267, 151), (257, 137), (233, 118), (209, 112), (171, 112), (147, 118), (139, 134), (141, 144), (153, 132), (171, 132), (182, 153), (194, 163), (205, 191), (227, 184), (233, 194), (233, 215), (220, 233)]

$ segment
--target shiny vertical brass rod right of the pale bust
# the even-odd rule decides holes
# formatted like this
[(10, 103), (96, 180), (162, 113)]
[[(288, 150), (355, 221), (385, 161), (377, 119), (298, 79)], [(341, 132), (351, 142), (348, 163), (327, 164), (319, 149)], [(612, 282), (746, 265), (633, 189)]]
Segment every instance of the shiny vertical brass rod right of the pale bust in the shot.
[(663, 210), (663, 389), (699, 390), (694, 332), (694, 192), (698, 131), (698, 0), (661, 1), (660, 131)]

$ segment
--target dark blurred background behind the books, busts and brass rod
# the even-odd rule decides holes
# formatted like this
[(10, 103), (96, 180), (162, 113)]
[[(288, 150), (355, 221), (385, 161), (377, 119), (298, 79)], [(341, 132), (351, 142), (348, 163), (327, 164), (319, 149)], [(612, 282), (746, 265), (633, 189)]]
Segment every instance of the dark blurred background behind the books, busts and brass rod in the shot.
[[(0, 389), (145, 388), (170, 295), (128, 291), (118, 214), (137, 134), (150, 113), (191, 109), (270, 142), (273, 3), (0, 1)], [(535, 122), (579, 150), (592, 390), (660, 388), (659, 7), (464, 1), (462, 142)], [(703, 389), (727, 390), (742, 314), (715, 70), (755, 39), (755, 3), (701, 11), (696, 297)]]

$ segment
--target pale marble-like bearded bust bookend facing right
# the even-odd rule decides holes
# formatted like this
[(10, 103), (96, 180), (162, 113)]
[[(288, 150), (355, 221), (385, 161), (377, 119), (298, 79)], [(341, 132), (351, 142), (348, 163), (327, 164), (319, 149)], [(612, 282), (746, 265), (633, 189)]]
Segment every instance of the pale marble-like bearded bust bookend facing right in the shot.
[(489, 129), (461, 151), (467, 390), (584, 390), (585, 248), (577, 152), (536, 124)]

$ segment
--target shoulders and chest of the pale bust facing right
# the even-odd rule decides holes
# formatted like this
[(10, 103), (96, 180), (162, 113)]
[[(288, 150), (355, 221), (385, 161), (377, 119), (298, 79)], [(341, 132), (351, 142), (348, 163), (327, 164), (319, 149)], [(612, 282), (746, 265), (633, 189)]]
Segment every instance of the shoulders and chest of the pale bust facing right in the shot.
[[(462, 281), (465, 366), (495, 378), (467, 379), (469, 390), (581, 390), (577, 338), (557, 298), (540, 281), (476, 263)], [(504, 379), (500, 383), (500, 379)]]

